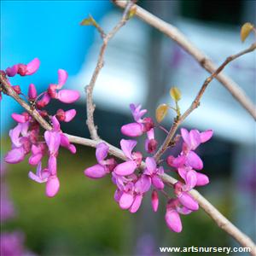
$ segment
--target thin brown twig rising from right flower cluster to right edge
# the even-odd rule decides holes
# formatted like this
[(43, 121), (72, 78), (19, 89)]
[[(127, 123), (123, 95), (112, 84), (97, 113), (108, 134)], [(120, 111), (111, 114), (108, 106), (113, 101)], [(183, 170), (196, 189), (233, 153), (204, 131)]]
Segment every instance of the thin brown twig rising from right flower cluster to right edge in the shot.
[(218, 67), (218, 69), (214, 73), (212, 73), (211, 76), (209, 76), (205, 80), (205, 82), (201, 86), (201, 90), (198, 92), (191, 106), (185, 111), (185, 113), (183, 113), (183, 115), (181, 115), (178, 119), (174, 120), (172, 128), (169, 131), (168, 135), (166, 136), (164, 143), (160, 146), (156, 154), (154, 154), (155, 160), (160, 160), (160, 156), (166, 152), (166, 149), (169, 147), (170, 143), (172, 142), (172, 138), (174, 137), (178, 126), (181, 125), (183, 123), (183, 120), (186, 119), (189, 116), (189, 114), (192, 113), (192, 111), (199, 106), (201, 96), (203, 96), (205, 90), (207, 89), (208, 84), (212, 82), (212, 79), (215, 79), (218, 76), (218, 73), (220, 73), (224, 69), (224, 67), (226, 67), (231, 61), (236, 60), (241, 55), (245, 55), (249, 52), (252, 52), (254, 49), (256, 49), (256, 44), (252, 44), (249, 48), (242, 50), (236, 55), (231, 55), (222, 63), (222, 65)]

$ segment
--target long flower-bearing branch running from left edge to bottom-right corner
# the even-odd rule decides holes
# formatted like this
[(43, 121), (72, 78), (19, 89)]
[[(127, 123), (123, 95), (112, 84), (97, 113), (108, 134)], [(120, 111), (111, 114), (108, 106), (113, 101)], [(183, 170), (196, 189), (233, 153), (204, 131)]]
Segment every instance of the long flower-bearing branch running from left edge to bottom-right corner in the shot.
[[(16, 102), (20, 104), (22, 108), (25, 108), (28, 113), (32, 115), (34, 119), (38, 121), (38, 123), (46, 130), (50, 130), (51, 126), (44, 120), (43, 117), (40, 116), (38, 111), (36, 109), (31, 108), (23, 99), (20, 98), (20, 96), (13, 90), (10, 85), (7, 83), (7, 81), (3, 78), (1, 75), (0, 77), (0, 84), (3, 88), (3, 91), (7, 93), (9, 96), (11, 96)], [(92, 148), (96, 148), (96, 145), (100, 142), (104, 142), (102, 140), (91, 140), (84, 137), (77, 137), (69, 134), (65, 134), (68, 137), (68, 140), (70, 143), (76, 143)], [(106, 143), (106, 142), (104, 142)], [(113, 145), (107, 143), (109, 146), (109, 154), (113, 154), (115, 157), (119, 158), (120, 160), (126, 160), (125, 154), (120, 150), (119, 148), (114, 147)], [(145, 168), (145, 163), (143, 162), (141, 165), (141, 168)], [(161, 176), (162, 180), (169, 184), (173, 185), (177, 182), (177, 180), (167, 174), (164, 174)], [(212, 206), (212, 204), (207, 201), (199, 192), (197, 192), (195, 189), (190, 191), (190, 194), (194, 196), (195, 200), (198, 201), (200, 207), (207, 212), (207, 214), (218, 224), (218, 226), (226, 231), (230, 236), (234, 237), (236, 241), (238, 241), (243, 247), (250, 247), (253, 250), (255, 250), (255, 245), (253, 244), (253, 241), (245, 234), (241, 232), (241, 230), (238, 230), (234, 224), (231, 224), (230, 221), (224, 217), (223, 214), (218, 212), (218, 210)], [(251, 253), (252, 255), (256, 255), (255, 253)]]

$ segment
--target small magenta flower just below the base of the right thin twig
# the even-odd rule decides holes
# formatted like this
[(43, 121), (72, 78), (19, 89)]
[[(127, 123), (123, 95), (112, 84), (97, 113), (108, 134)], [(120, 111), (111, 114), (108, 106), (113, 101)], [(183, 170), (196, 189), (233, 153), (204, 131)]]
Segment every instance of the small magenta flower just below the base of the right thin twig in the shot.
[(159, 175), (164, 173), (164, 168), (160, 166), (157, 168), (153, 157), (146, 158), (146, 169), (143, 174), (151, 178), (151, 181), (156, 189), (164, 189), (165, 184), (162, 182)]

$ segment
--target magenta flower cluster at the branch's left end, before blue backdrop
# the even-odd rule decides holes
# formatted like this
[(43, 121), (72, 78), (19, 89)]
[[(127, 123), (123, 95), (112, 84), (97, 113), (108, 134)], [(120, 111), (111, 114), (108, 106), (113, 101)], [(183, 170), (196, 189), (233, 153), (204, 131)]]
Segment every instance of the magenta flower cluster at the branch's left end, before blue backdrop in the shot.
[[(2, 75), (12, 86), (7, 77), (14, 77), (16, 74), (20, 76), (32, 75), (37, 72), (39, 60), (36, 58), (27, 65), (16, 64), (8, 67), (5, 71), (1, 71)], [(46, 195), (55, 196), (60, 188), (59, 178), (57, 177), (57, 156), (60, 146), (67, 148), (71, 153), (76, 153), (76, 148), (69, 143), (68, 138), (61, 131), (60, 122), (69, 122), (76, 115), (75, 109), (64, 111), (59, 109), (54, 115), (44, 109), (51, 99), (57, 99), (65, 103), (73, 103), (79, 99), (77, 90), (61, 90), (67, 81), (67, 72), (63, 69), (58, 71), (58, 83), (49, 84), (47, 90), (38, 95), (36, 86), (30, 84), (28, 88), (27, 101), (31, 103), (31, 108), (35, 108), (44, 118), (49, 119), (52, 129), (44, 131), (44, 137), (41, 135), (40, 125), (29, 113), (12, 113), (12, 118), (18, 123), (14, 129), (9, 131), (12, 148), (5, 155), (4, 160), (9, 164), (16, 164), (24, 160), (27, 154), (29, 164), (37, 166), (36, 174), (29, 172), (28, 176), (38, 182), (46, 183)], [(20, 94), (20, 86), (12, 86), (16, 93)], [(48, 165), (42, 167), (44, 156), (49, 156)]]

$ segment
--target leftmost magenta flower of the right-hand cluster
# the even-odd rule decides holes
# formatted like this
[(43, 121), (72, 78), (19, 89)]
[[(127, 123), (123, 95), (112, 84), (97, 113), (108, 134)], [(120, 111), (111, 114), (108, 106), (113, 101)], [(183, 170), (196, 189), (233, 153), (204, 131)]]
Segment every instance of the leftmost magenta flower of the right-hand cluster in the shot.
[(113, 158), (107, 159), (109, 147), (106, 143), (99, 143), (96, 146), (97, 164), (84, 170), (84, 175), (90, 178), (100, 178), (113, 171), (116, 165)]

